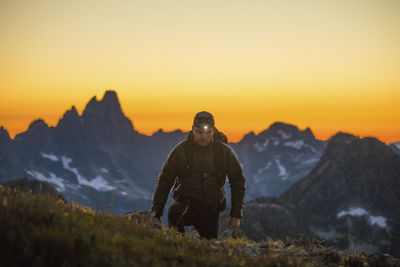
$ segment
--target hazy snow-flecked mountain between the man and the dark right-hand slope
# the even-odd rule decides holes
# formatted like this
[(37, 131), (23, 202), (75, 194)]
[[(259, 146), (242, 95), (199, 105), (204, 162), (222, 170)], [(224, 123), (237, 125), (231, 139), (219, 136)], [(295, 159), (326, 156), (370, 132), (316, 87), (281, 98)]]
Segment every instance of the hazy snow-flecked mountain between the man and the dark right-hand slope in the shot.
[(309, 128), (300, 131), (282, 122), (273, 123), (258, 135), (250, 132), (232, 144), (246, 176), (246, 198), (282, 194), (311, 171), (325, 145)]

